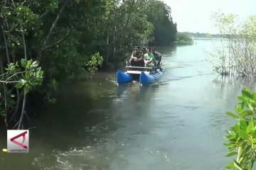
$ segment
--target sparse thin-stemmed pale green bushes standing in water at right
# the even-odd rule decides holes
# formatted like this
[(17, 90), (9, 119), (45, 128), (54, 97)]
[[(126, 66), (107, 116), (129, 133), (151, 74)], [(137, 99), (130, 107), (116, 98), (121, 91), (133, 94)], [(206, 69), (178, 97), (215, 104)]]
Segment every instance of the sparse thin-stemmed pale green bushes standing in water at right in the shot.
[(215, 21), (223, 38), (222, 46), (213, 54), (215, 72), (255, 78), (256, 16), (241, 23), (238, 16), (216, 13)]

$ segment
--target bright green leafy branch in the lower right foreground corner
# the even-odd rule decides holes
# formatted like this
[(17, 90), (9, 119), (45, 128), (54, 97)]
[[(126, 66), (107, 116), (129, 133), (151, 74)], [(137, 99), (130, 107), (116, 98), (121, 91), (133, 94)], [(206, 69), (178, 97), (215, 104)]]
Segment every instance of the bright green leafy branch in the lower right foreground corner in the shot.
[(252, 169), (256, 161), (256, 93), (249, 89), (242, 89), (242, 96), (238, 96), (239, 106), (235, 106), (236, 113), (227, 112), (237, 123), (228, 131), (225, 146), (228, 147), (226, 157), (236, 155), (225, 169)]

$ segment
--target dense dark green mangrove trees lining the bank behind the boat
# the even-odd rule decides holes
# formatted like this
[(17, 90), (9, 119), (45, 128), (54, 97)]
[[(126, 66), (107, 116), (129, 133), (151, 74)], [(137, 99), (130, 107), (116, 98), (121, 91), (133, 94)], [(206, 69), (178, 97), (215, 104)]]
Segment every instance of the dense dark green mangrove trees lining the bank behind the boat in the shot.
[(156, 0), (4, 0), (0, 34), (0, 119), (23, 128), (28, 106), (55, 102), (53, 91), (81, 72), (119, 62), (154, 36), (174, 41), (171, 8)]

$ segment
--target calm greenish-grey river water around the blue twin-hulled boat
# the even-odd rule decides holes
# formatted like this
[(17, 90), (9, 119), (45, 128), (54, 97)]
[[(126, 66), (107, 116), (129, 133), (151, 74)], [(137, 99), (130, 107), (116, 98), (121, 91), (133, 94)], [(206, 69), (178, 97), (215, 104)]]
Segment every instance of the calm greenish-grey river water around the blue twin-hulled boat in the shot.
[[(252, 82), (218, 77), (207, 61), (219, 40), (161, 47), (165, 73), (151, 86), (116, 86), (115, 73), (60, 89), (33, 118), (29, 154), (0, 153), (0, 169), (223, 169), (236, 96)], [(6, 147), (1, 130), (0, 147)]]

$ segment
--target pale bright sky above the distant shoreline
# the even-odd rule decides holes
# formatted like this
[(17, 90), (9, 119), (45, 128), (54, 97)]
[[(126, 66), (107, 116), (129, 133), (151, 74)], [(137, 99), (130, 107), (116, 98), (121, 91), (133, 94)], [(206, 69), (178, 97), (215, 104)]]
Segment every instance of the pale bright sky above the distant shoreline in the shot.
[(218, 33), (213, 13), (234, 13), (241, 20), (256, 15), (256, 0), (162, 0), (171, 6), (178, 32)]

